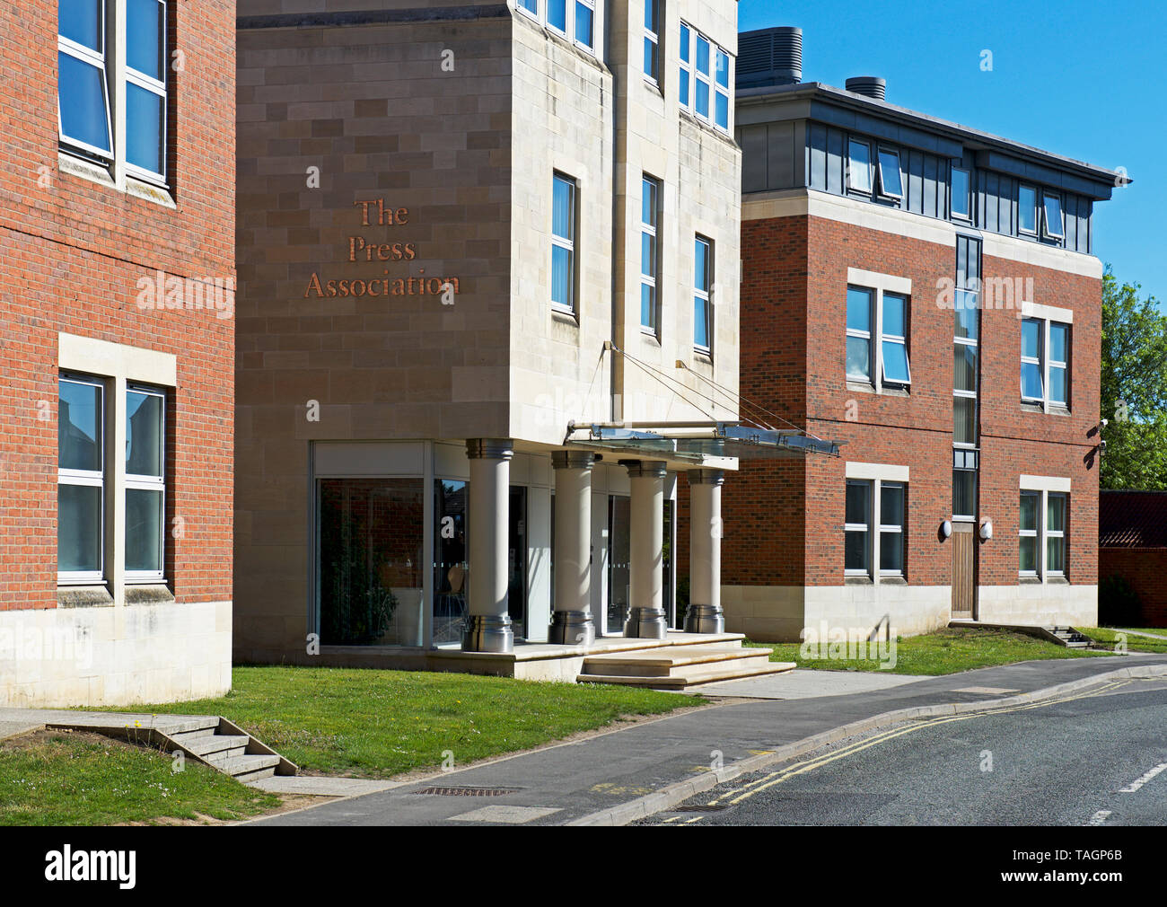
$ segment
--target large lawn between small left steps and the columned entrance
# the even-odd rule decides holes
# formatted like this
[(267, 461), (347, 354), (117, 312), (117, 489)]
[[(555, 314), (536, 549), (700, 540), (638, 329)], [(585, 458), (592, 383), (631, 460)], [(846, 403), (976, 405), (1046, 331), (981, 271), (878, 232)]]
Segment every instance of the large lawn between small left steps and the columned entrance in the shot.
[(529, 749), (698, 697), (599, 684), (347, 668), (244, 667), (218, 699), (135, 706), (222, 714), (303, 772), (387, 777)]

